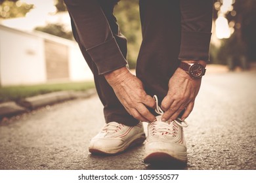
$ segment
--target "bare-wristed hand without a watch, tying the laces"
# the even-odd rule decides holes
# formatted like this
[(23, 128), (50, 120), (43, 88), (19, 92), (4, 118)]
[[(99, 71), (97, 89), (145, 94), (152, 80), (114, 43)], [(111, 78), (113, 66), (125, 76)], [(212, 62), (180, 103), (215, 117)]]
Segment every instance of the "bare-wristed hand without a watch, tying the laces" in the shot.
[(126, 67), (104, 76), (129, 114), (143, 122), (156, 120), (146, 108), (146, 106), (155, 108), (156, 102), (146, 94), (139, 78), (132, 75)]

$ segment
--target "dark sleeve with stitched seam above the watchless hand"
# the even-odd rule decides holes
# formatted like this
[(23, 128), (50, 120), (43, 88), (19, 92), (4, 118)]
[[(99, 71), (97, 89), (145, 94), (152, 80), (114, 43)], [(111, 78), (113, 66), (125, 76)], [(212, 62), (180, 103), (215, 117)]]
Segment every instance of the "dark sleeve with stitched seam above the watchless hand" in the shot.
[(127, 65), (98, 1), (64, 0), (64, 3), (79, 41), (95, 62), (99, 75)]

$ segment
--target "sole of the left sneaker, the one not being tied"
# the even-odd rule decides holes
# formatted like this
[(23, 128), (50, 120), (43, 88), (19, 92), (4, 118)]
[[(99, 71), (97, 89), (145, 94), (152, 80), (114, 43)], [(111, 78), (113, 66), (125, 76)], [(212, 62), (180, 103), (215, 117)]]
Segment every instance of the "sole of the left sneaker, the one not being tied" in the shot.
[(131, 148), (133, 146), (139, 146), (145, 140), (146, 140), (146, 135), (142, 134), (142, 135), (140, 135), (140, 137), (137, 137), (135, 140), (129, 141), (129, 142), (123, 144), (123, 146), (117, 147), (116, 149), (107, 151), (107, 150), (100, 150), (98, 148), (89, 148), (89, 152), (91, 152), (91, 154), (99, 154), (99, 155), (104, 155), (104, 154), (114, 155), (114, 154), (118, 154), (120, 152), (127, 150), (127, 148)]

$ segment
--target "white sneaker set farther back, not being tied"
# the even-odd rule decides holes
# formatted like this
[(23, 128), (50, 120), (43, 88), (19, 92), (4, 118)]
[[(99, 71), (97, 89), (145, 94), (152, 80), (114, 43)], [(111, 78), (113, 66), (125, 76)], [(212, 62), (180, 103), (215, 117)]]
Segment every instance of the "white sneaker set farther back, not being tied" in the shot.
[(110, 122), (91, 139), (89, 152), (93, 154), (117, 154), (129, 146), (142, 144), (146, 139), (142, 123), (126, 126)]

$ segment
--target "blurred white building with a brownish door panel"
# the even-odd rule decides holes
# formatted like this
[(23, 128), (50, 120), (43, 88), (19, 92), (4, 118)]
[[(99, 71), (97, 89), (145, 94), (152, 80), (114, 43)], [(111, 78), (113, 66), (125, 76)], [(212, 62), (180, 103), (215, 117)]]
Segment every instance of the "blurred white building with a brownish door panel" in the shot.
[(0, 85), (93, 80), (77, 43), (0, 25)]

